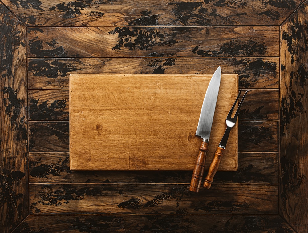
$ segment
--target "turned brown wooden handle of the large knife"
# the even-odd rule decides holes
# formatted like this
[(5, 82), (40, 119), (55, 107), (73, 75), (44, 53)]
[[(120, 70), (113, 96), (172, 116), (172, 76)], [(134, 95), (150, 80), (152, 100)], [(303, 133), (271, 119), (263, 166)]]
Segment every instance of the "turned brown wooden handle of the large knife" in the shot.
[(205, 165), (205, 156), (206, 152), (208, 151), (208, 144), (209, 144), (208, 142), (202, 141), (201, 146), (199, 148), (198, 158), (195, 163), (192, 180), (190, 182), (190, 187), (189, 187), (190, 191), (199, 192)]

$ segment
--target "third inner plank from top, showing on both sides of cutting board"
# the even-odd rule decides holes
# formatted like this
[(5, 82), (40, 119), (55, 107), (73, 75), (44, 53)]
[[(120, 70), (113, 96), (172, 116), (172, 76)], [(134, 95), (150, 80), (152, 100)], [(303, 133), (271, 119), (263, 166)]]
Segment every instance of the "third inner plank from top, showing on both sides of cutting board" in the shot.
[[(238, 118), (278, 120), (278, 98), (278, 89), (249, 89)], [(31, 120), (69, 120), (69, 90), (29, 90), (28, 102)]]

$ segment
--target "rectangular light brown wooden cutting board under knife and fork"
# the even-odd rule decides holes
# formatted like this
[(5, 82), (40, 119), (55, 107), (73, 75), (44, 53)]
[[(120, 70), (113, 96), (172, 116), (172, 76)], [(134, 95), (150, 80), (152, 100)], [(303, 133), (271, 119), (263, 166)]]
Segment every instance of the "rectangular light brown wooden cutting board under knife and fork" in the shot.
[[(72, 170), (193, 170), (195, 136), (212, 74), (71, 74)], [(237, 96), (238, 75), (223, 74), (206, 157), (208, 169)], [(237, 170), (237, 125), (219, 171)]]

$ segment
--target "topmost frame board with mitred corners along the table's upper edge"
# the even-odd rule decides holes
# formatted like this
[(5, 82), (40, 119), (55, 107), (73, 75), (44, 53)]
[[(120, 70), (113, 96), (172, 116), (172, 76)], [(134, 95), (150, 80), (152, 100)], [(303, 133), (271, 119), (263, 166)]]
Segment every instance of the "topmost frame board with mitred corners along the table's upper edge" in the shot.
[(279, 25), (294, 1), (48, 1), (3, 0), (27, 26)]

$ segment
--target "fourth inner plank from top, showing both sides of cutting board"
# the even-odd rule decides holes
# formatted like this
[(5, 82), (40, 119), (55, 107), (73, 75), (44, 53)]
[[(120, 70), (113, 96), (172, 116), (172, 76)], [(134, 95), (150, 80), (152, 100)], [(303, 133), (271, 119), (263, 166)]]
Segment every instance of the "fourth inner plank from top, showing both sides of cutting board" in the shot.
[[(239, 152), (277, 152), (278, 122), (240, 121)], [(69, 152), (69, 122), (29, 122), (31, 152)]]

